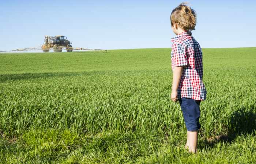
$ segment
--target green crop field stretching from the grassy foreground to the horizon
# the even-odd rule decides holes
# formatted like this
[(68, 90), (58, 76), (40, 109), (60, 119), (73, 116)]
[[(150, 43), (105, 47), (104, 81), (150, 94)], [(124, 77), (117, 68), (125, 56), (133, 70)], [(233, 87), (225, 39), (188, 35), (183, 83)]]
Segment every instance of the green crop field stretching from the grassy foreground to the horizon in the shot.
[(256, 47), (204, 48), (196, 154), (170, 48), (0, 54), (0, 163), (256, 163)]

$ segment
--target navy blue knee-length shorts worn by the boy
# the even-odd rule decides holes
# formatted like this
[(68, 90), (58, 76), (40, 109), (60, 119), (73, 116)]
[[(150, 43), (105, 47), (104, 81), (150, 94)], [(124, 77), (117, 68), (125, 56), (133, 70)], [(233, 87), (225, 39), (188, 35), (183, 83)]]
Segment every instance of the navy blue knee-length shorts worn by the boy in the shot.
[(181, 97), (178, 99), (183, 113), (185, 124), (188, 131), (197, 131), (201, 128), (199, 123), (200, 117), (200, 100)]

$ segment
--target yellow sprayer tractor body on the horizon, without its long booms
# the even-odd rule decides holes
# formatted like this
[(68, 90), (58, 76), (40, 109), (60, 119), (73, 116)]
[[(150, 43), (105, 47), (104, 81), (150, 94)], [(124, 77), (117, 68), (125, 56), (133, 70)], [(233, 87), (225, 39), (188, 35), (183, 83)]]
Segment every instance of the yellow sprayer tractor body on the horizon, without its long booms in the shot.
[[(66, 39), (65, 39), (66, 38)], [(63, 48), (66, 48), (67, 52), (72, 52), (72, 43), (67, 40), (67, 37), (63, 35), (57, 36), (45, 36), (44, 44), (42, 45), (43, 52), (49, 52), (52, 48), (54, 52), (62, 52)]]

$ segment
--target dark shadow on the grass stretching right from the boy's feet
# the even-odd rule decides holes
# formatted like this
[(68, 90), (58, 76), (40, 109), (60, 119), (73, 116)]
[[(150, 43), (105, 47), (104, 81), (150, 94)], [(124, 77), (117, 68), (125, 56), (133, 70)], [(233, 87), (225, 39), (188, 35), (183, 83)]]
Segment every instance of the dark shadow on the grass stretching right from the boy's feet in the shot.
[(227, 134), (207, 138), (202, 144), (198, 145), (199, 149), (213, 148), (219, 142), (231, 143), (238, 136), (252, 134), (256, 130), (256, 111), (255, 104), (248, 108), (240, 108), (230, 115)]

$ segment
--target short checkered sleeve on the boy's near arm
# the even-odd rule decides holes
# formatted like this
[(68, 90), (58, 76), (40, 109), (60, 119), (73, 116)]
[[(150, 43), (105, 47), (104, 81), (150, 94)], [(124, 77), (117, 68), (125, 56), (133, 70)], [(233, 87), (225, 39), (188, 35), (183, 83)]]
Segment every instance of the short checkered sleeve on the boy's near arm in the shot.
[(188, 65), (186, 49), (178, 43), (173, 43), (172, 46), (172, 69), (178, 66)]

